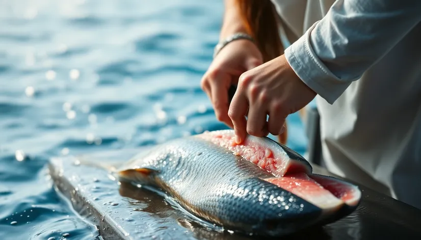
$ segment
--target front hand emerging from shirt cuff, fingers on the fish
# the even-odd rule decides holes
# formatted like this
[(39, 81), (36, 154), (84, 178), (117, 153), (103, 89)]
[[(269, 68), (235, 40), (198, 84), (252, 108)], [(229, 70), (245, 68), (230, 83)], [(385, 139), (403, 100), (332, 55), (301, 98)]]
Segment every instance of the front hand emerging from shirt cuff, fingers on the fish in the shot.
[(257, 137), (281, 135), (287, 115), (305, 107), (315, 96), (284, 55), (243, 73), (228, 111), (235, 141), (241, 143), (247, 133)]

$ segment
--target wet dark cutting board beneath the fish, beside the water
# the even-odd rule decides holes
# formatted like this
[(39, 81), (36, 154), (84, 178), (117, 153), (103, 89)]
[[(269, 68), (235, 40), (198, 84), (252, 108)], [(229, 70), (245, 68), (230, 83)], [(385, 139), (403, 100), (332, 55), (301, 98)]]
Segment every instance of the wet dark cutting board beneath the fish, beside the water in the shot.
[[(103, 239), (262, 239), (202, 227), (163, 197), (124, 183), (85, 160), (125, 162), (139, 151), (117, 150), (51, 159), (57, 190), (82, 218), (97, 225)], [(313, 172), (329, 174), (313, 166)], [(354, 213), (324, 227), (282, 239), (421, 239), (421, 210), (359, 186), (362, 202)]]

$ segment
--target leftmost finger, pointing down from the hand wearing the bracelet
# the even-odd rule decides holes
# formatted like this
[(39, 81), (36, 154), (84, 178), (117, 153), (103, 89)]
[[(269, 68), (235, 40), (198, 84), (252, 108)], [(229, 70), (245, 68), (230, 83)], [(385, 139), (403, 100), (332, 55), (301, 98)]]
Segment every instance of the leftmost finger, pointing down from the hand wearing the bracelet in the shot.
[(221, 74), (218, 79), (210, 82), (212, 104), (218, 121), (224, 122), (229, 127), (232, 126), (231, 119), (228, 117), (228, 88), (230, 76), (228, 74)]

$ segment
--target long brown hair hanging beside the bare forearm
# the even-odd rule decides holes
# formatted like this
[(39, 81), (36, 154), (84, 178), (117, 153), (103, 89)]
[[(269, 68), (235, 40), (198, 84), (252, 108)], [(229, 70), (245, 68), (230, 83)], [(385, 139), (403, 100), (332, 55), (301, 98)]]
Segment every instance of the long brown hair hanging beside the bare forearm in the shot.
[(278, 31), (278, 14), (270, 0), (236, 0), (246, 30), (268, 62), (283, 54)]

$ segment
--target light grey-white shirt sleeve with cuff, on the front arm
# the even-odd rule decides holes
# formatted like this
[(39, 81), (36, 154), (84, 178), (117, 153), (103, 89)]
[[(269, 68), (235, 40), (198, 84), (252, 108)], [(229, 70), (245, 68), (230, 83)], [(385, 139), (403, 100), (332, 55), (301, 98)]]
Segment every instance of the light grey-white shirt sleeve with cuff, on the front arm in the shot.
[(285, 57), (304, 83), (333, 104), (420, 21), (421, 1), (337, 0), (285, 49)]

